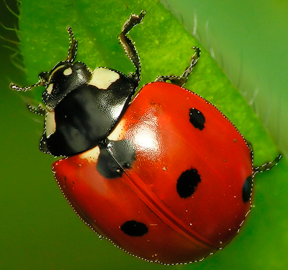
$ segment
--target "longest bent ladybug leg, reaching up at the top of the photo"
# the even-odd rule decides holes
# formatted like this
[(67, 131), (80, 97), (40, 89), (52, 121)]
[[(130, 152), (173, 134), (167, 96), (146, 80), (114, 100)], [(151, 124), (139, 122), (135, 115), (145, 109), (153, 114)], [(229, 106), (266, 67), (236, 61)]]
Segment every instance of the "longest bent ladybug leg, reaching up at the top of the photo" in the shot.
[(145, 15), (145, 11), (141, 11), (140, 15), (132, 14), (130, 19), (124, 24), (122, 32), (119, 34), (118, 38), (120, 39), (121, 44), (123, 45), (127, 56), (130, 58), (134, 66), (136, 67), (135, 73), (130, 73), (128, 77), (132, 78), (135, 83), (138, 85), (140, 81), (140, 58), (137, 53), (137, 50), (134, 46), (134, 43), (126, 35), (129, 30), (131, 30), (135, 25), (139, 24)]

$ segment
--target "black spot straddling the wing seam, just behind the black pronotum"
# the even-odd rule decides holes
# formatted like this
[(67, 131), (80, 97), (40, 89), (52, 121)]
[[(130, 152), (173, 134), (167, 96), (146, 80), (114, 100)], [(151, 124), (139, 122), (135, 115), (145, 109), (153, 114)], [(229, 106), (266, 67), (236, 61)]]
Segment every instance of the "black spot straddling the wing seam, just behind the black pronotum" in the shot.
[(135, 157), (135, 146), (130, 140), (111, 140), (106, 146), (100, 146), (96, 168), (106, 178), (121, 177), (124, 169), (132, 166)]

